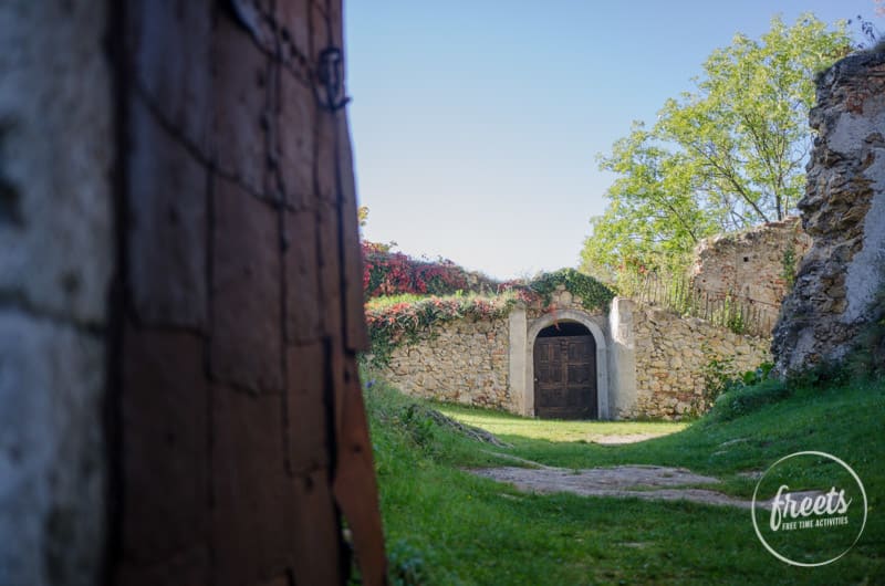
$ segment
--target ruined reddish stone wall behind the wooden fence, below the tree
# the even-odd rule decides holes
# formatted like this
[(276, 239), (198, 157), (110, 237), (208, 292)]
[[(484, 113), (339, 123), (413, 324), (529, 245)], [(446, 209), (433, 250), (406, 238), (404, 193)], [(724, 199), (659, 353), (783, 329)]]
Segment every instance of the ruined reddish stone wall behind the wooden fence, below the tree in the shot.
[(784, 278), (784, 254), (792, 251), (795, 270), (810, 247), (799, 218), (708, 238), (695, 250), (691, 285), (711, 299), (735, 294), (752, 301), (777, 317), (791, 284)]

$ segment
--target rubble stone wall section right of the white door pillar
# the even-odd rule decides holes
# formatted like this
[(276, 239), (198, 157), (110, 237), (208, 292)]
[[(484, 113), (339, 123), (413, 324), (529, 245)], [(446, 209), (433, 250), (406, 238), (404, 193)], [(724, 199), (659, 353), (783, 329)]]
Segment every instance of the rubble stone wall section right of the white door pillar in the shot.
[(696, 317), (637, 305), (633, 310), (636, 402), (620, 417), (676, 418), (699, 405), (704, 369), (714, 358), (741, 374), (770, 362), (769, 339), (735, 334)]

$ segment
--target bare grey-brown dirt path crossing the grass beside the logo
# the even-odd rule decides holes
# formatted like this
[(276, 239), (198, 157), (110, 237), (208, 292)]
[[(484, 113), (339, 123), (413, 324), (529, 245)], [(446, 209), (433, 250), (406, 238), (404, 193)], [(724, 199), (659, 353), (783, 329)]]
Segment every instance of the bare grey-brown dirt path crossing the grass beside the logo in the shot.
[(750, 509), (750, 501), (690, 485), (716, 484), (719, 479), (695, 474), (685, 468), (620, 465), (570, 470), (537, 462), (538, 468), (482, 468), (469, 470), (479, 477), (507, 482), (525, 492), (571, 492), (585, 496), (635, 496), (655, 501), (687, 500), (705, 504)]

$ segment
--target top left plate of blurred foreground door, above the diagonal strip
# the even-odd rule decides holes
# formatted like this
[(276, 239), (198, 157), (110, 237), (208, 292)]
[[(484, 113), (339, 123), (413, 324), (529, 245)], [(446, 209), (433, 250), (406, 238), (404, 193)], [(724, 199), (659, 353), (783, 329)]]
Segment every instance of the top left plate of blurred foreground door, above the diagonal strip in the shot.
[(126, 43), (138, 90), (208, 158), (212, 3), (135, 0), (127, 7)]

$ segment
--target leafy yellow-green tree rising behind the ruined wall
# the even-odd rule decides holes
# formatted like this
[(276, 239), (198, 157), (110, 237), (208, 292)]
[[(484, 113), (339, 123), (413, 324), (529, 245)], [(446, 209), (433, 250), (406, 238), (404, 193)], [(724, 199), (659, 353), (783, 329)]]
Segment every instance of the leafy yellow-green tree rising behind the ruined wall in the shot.
[(656, 124), (600, 158), (618, 175), (591, 220), (582, 268), (612, 279), (625, 265), (673, 268), (699, 239), (780, 220), (804, 189), (814, 74), (844, 56), (844, 22), (780, 18), (759, 40), (737, 34), (715, 51), (695, 91), (668, 100)]

